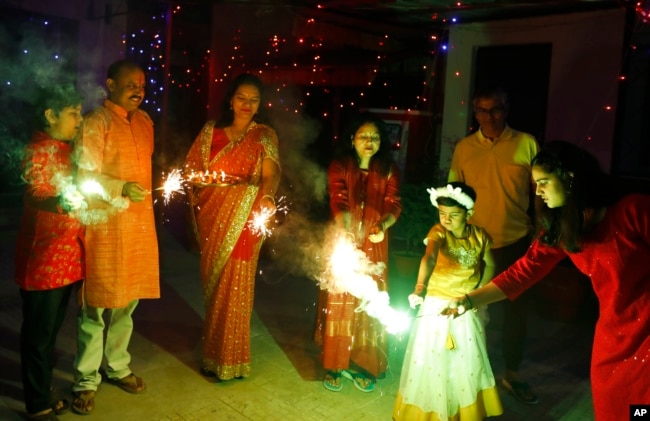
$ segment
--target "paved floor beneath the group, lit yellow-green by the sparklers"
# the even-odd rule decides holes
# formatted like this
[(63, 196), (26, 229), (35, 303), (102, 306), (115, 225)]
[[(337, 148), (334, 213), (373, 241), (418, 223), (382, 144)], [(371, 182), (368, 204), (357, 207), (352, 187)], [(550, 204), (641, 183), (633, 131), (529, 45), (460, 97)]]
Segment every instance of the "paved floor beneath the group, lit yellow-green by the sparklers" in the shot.
[[(407, 338), (393, 338), (390, 369), (373, 393), (346, 381), (339, 393), (322, 387), (318, 349), (312, 341), (317, 287), (262, 261), (252, 320), (253, 374), (245, 380), (210, 383), (198, 372), (203, 318), (198, 256), (160, 229), (162, 298), (141, 302), (131, 341), (131, 368), (148, 390), (129, 395), (101, 385), (89, 417), (68, 413), (62, 420), (390, 420)], [(0, 420), (23, 416), (18, 333), (20, 297), (13, 284), (15, 230), (0, 231)], [(393, 302), (403, 302), (408, 286), (393, 282)], [(400, 301), (401, 300), (401, 301)], [(54, 385), (69, 395), (75, 351), (74, 303), (58, 338)], [(498, 306), (488, 329), (493, 369), (499, 358)], [(531, 311), (525, 376), (540, 397), (535, 406), (501, 393), (505, 413), (498, 420), (591, 420), (588, 370), (593, 321), (549, 321)]]

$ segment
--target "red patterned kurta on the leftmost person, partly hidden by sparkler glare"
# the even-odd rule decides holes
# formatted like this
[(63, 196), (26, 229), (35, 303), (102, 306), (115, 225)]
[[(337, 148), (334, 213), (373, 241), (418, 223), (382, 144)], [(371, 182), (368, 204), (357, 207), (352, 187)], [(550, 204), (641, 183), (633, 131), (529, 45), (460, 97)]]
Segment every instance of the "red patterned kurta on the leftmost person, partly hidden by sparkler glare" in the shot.
[[(74, 183), (72, 146), (37, 132), (25, 150), (25, 195), (58, 196)], [(70, 214), (36, 209), (25, 202), (16, 241), (15, 281), (24, 290), (48, 290), (79, 281), (84, 274), (83, 227)]]

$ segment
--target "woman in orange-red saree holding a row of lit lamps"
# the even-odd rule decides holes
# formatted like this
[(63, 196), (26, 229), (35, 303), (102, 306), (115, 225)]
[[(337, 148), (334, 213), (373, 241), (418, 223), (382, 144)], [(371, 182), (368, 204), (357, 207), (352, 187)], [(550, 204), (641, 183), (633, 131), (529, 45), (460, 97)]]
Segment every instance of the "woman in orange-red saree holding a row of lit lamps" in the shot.
[(204, 125), (185, 160), (205, 301), (201, 373), (220, 380), (251, 372), (250, 319), (264, 237), (249, 222), (264, 208), (275, 211), (280, 179), (277, 135), (254, 121), (261, 95), (257, 77), (237, 77), (221, 120)]

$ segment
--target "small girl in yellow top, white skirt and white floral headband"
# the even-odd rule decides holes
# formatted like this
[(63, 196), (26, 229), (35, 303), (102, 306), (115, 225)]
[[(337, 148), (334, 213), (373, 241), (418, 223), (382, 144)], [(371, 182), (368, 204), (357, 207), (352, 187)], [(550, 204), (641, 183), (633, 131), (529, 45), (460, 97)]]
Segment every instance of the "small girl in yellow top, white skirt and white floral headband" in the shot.
[[(476, 192), (461, 182), (430, 188), (440, 223), (424, 243), (412, 308), (420, 306), (406, 348), (394, 420), (481, 420), (503, 413), (485, 340), (487, 308), (459, 308), (441, 316), (449, 300), (488, 282), (494, 274), (491, 239), (467, 223)], [(423, 298), (424, 296), (424, 298)]]

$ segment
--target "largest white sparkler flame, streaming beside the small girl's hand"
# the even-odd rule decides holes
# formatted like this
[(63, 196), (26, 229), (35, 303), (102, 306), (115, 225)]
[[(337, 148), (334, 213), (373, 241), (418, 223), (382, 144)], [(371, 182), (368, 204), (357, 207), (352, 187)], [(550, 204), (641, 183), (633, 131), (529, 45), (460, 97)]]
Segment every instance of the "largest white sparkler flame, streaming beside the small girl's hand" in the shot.
[(339, 236), (328, 261), (324, 284), (334, 293), (347, 292), (357, 297), (361, 304), (355, 311), (365, 311), (383, 324), (388, 333), (398, 334), (409, 328), (411, 319), (390, 306), (388, 292), (379, 291), (372, 275), (381, 274), (384, 266), (369, 261), (351, 238)]

